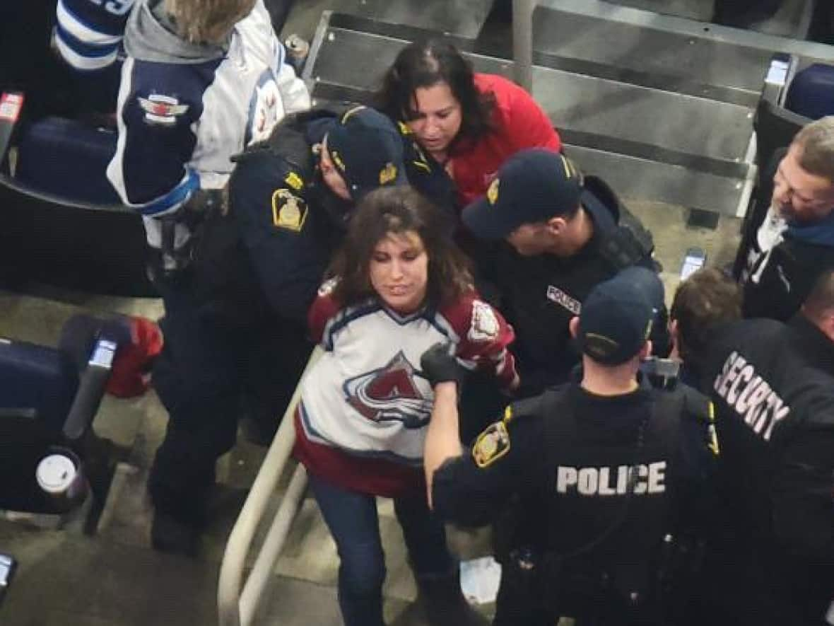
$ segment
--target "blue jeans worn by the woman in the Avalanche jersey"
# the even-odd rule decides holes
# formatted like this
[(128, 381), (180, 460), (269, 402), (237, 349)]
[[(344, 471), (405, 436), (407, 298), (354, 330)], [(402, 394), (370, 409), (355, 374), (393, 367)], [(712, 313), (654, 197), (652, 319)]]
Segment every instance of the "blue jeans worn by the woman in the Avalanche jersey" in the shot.
[[(382, 583), (385, 559), (379, 538), (376, 497), (352, 492), (310, 475), (310, 487), (339, 549), (339, 608), (345, 626), (384, 626)], [(394, 498), (415, 578), (442, 576), (455, 567), (443, 523), (425, 495)]]

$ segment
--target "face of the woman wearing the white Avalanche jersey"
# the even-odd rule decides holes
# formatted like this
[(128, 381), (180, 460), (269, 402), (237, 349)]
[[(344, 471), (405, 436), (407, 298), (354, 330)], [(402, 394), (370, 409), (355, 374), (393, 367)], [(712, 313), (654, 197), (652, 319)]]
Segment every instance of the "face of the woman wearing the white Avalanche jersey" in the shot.
[(414, 230), (389, 233), (374, 247), (370, 284), (385, 305), (408, 315), (420, 309), (429, 285), (429, 255)]

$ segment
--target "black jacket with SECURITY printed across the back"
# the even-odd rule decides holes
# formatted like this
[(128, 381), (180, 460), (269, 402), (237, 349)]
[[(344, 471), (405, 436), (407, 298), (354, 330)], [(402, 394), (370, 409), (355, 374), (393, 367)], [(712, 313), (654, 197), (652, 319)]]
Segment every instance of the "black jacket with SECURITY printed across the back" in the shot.
[(727, 531), (711, 558), (721, 623), (819, 624), (834, 598), (834, 379), (796, 339), (750, 320), (722, 326), (709, 346)]

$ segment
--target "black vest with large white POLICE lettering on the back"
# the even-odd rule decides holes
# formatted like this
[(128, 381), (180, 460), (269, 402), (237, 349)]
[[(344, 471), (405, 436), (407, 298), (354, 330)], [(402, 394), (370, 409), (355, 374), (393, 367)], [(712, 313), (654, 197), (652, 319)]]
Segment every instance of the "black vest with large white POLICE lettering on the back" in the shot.
[(656, 600), (656, 570), (673, 526), (684, 399), (670, 391), (650, 397), (631, 437), (604, 446), (588, 441), (568, 393), (541, 397), (551, 483), (544, 561), (555, 603), (600, 593), (624, 603)]

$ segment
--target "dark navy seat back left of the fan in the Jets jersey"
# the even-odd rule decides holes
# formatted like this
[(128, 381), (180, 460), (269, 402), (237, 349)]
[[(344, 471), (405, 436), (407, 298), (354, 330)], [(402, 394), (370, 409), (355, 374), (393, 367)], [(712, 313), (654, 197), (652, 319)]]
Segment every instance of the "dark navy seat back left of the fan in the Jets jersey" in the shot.
[(92, 204), (119, 204), (107, 179), (114, 130), (73, 119), (44, 118), (22, 129), (15, 178), (33, 189)]

